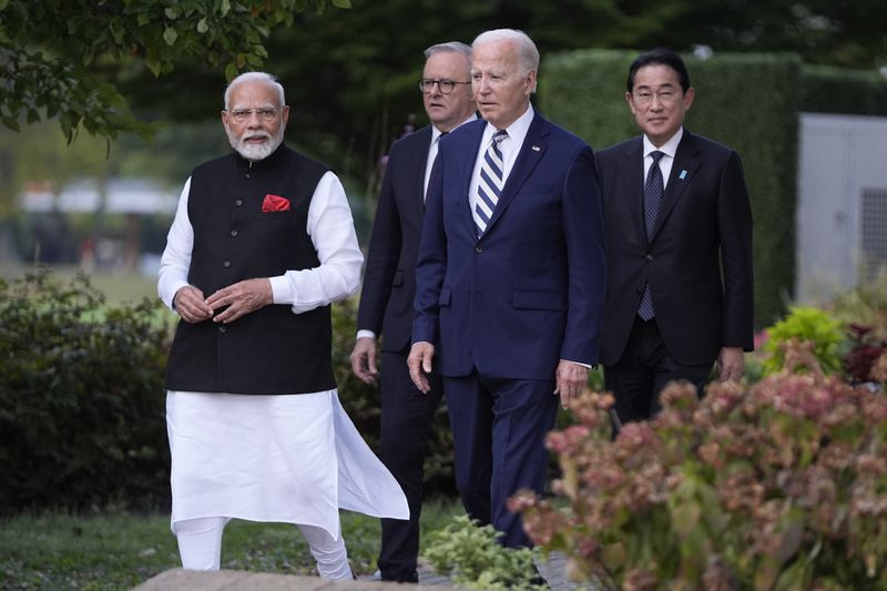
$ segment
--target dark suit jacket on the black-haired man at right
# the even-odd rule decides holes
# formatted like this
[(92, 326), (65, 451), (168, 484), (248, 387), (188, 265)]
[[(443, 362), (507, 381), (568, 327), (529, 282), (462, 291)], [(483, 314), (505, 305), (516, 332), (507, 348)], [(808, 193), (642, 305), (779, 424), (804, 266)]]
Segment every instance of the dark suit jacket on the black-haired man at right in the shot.
[(621, 357), (648, 282), (679, 363), (711, 364), (721, 347), (752, 350), (752, 208), (738, 154), (684, 130), (649, 241), (642, 136), (600, 151), (598, 166), (609, 262), (603, 365)]

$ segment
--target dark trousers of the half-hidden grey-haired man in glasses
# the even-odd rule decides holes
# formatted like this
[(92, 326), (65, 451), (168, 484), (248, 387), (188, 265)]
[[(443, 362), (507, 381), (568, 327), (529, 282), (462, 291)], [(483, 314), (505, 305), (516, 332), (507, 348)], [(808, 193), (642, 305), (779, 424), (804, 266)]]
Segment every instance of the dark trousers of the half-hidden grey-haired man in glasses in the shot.
[(378, 564), (384, 581), (415, 583), (419, 580), (416, 561), (425, 454), (443, 391), (439, 376), (429, 376), (429, 381), (431, 391), (422, 394), (409, 378), (407, 353), (383, 353), (379, 458), (404, 489), (409, 505), (409, 520), (381, 520)]

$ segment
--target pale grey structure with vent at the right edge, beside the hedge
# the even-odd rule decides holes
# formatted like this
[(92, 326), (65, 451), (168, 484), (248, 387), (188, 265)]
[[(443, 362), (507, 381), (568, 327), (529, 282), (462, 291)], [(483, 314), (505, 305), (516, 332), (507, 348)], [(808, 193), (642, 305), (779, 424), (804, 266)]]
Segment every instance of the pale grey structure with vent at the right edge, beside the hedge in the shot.
[(827, 302), (887, 267), (887, 119), (801, 115), (799, 303)]

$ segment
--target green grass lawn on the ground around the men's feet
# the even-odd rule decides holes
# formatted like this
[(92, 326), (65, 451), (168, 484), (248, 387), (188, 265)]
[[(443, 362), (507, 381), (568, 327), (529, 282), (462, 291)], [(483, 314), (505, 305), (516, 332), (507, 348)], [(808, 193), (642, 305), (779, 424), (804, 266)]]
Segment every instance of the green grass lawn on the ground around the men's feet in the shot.
[[(428, 502), (422, 531), (442, 529), (462, 512), (458, 502)], [(379, 520), (343, 511), (341, 526), (351, 568), (358, 575), (375, 571)], [(0, 521), (0, 589), (131, 589), (180, 565), (167, 514), (55, 513)], [(316, 575), (302, 533), (285, 523), (228, 523), (222, 568)]]

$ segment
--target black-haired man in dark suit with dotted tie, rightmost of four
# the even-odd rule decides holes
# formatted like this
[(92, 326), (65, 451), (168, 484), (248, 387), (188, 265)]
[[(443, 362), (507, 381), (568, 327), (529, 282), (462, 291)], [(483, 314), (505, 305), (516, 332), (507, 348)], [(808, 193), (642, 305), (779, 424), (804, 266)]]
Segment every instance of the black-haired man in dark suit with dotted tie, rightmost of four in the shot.
[(625, 102), (643, 134), (598, 154), (610, 263), (601, 361), (618, 425), (654, 416), (670, 381), (702, 391), (715, 363), (720, 379), (740, 379), (753, 347), (748, 191), (734, 150), (684, 129), (694, 96), (680, 55), (641, 54)]

